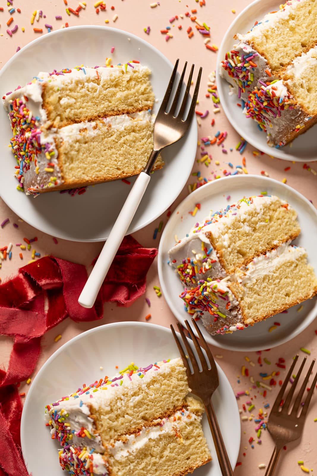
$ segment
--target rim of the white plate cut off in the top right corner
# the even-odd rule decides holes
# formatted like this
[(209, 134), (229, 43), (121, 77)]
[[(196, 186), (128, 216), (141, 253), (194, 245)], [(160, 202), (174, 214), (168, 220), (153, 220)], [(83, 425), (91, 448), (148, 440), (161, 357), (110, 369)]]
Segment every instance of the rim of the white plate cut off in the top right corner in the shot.
[[(228, 36), (229, 36), (229, 30), (231, 30), (231, 28), (236, 25), (237, 23), (239, 23), (239, 21), (241, 20), (242, 17), (244, 17), (244, 15), (246, 15), (248, 13), (248, 10), (253, 8), (255, 5), (257, 5), (258, 3), (263, 3), (262, 0), (254, 0), (252, 1), (249, 5), (247, 5), (240, 13), (239, 15), (230, 23), (228, 29), (226, 30), (226, 32), (224, 33), (223, 35), (223, 38), (221, 40), (221, 44), (220, 44), (220, 47), (219, 47), (219, 50), (218, 50), (218, 53), (217, 53), (217, 63), (216, 63), (216, 84), (217, 84), (217, 90), (218, 90), (218, 94), (219, 94), (219, 98), (220, 98), (220, 103), (221, 103), (221, 107), (226, 115), (226, 118), (228, 119), (228, 121), (230, 122), (231, 126), (233, 127), (233, 129), (236, 130), (236, 132), (238, 132), (238, 134), (240, 134), (241, 137), (244, 138), (244, 135), (245, 135), (245, 130), (243, 128), (240, 127), (240, 124), (239, 122), (235, 121), (232, 119), (232, 114), (231, 114), (231, 109), (230, 108), (227, 108), (227, 105), (226, 105), (226, 102), (225, 102), (225, 95), (226, 95), (226, 92), (225, 92), (225, 86), (228, 86), (229, 83), (228, 81), (226, 81), (226, 79), (224, 78), (221, 78), (220, 76), (220, 72), (219, 72), (219, 65), (221, 63), (221, 60), (223, 59), (223, 50), (224, 50), (224, 45), (225, 43), (228, 41)], [(278, 2), (276, 2), (278, 4)], [(228, 95), (228, 91), (227, 91), (227, 95)], [(241, 111), (242, 113), (242, 111)], [(247, 139), (245, 139), (247, 140)], [(277, 158), (277, 159), (282, 159), (282, 160), (288, 160), (288, 161), (295, 161), (295, 162), (316, 162), (317, 161), (317, 155), (312, 158), (312, 157), (305, 157), (305, 158), (298, 158), (298, 156), (296, 155), (286, 155), (284, 152), (283, 152), (283, 147), (280, 148), (280, 149), (276, 149), (275, 147), (269, 147), (269, 145), (265, 144), (265, 147), (259, 147), (259, 143), (257, 142), (256, 139), (253, 139), (252, 135), (250, 135), (250, 138), (248, 138), (247, 142), (255, 147), (256, 149), (259, 149), (261, 152), (264, 152), (265, 154), (269, 155), (269, 156), (273, 156), (274, 158)], [(265, 150), (263, 150), (265, 149)]]

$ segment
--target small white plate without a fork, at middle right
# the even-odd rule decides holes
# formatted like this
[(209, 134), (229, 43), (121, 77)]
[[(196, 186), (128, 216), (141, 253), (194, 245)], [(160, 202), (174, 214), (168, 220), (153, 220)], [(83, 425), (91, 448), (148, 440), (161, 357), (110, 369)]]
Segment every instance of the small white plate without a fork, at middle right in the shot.
[[(179, 297), (183, 292), (183, 286), (174, 269), (167, 264), (168, 251), (175, 244), (174, 236), (183, 238), (195, 223), (208, 217), (210, 210), (225, 208), (240, 198), (259, 195), (264, 191), (287, 200), (298, 212), (301, 233), (294, 243), (307, 249), (308, 260), (317, 272), (317, 211), (307, 198), (272, 178), (257, 175), (220, 178), (198, 188), (183, 200), (169, 218), (160, 241), (157, 266), (161, 290), (174, 316), (183, 325), (184, 320), (188, 318), (183, 299)], [(229, 200), (226, 199), (228, 195)], [(201, 204), (201, 209), (193, 218), (189, 211), (195, 208), (196, 203)], [(316, 317), (317, 298), (305, 301), (300, 312), (299, 307), (300, 305), (291, 307), (287, 313), (277, 314), (243, 331), (224, 336), (211, 336), (202, 323), (200, 328), (206, 341), (216, 347), (240, 351), (265, 350), (284, 344), (306, 329)], [(273, 326), (274, 322), (279, 322), (280, 326), (269, 332), (269, 327)]]

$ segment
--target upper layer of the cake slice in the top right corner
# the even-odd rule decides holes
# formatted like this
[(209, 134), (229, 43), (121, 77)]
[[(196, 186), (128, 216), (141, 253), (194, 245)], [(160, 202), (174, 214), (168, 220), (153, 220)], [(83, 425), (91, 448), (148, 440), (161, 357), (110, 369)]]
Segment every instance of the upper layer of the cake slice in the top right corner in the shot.
[(289, 0), (256, 21), (228, 51), (221, 75), (231, 83), (239, 98), (267, 81), (279, 79), (279, 72), (317, 42), (317, 1)]

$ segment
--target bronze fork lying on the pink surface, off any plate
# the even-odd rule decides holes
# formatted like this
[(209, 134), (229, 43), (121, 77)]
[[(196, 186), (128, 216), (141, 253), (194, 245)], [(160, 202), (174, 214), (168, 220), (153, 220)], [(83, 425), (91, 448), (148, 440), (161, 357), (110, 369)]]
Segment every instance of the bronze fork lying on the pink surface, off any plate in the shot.
[[(274, 443), (275, 443), (275, 449), (273, 451), (273, 454), (271, 456), (269, 466), (266, 470), (265, 476), (273, 476), (275, 473), (275, 469), (277, 466), (277, 463), (279, 461), (279, 455), (281, 453), (281, 449), (283, 446), (285, 446), (287, 443), (290, 443), (291, 441), (297, 440), (301, 434), (303, 433), (303, 428), (304, 428), (304, 422), (305, 422), (305, 417), (307, 414), (308, 406), (311, 400), (311, 397), (313, 395), (316, 382), (317, 382), (317, 373), (315, 375), (315, 378), (310, 386), (310, 390), (308, 392), (308, 395), (306, 397), (305, 403), (303, 406), (301, 406), (302, 403), (302, 397), (304, 395), (305, 389), (307, 387), (307, 382), (310, 377), (310, 374), (313, 370), (314, 364), (315, 364), (315, 359), (312, 361), (308, 372), (306, 374), (306, 377), (304, 379), (304, 382), (302, 386), (299, 389), (298, 395), (295, 399), (294, 405), (292, 407), (291, 412), (289, 413), (290, 409), (290, 404), (292, 397), (295, 392), (295, 388), (298, 384), (298, 380), (300, 377), (300, 374), (303, 370), (303, 367), (305, 365), (305, 362), (307, 360), (307, 357), (304, 358), (298, 373), (295, 377), (294, 382), (292, 383), (292, 386), (290, 387), (287, 396), (285, 397), (285, 401), (283, 400), (283, 395), (285, 393), (285, 389), (287, 387), (287, 384), (289, 382), (289, 379), (292, 376), (294, 367), (296, 365), (296, 362), (298, 360), (298, 355), (294, 358), (294, 362), (292, 363), (288, 374), (283, 382), (282, 387), (279, 390), (279, 395), (276, 397), (276, 400), (274, 402), (274, 405), (271, 409), (271, 413), (269, 414), (269, 420), (267, 423), (267, 427), (269, 430), (269, 434), (272, 436)], [(301, 408), (301, 412), (299, 413)], [(298, 415), (299, 413), (299, 415)]]

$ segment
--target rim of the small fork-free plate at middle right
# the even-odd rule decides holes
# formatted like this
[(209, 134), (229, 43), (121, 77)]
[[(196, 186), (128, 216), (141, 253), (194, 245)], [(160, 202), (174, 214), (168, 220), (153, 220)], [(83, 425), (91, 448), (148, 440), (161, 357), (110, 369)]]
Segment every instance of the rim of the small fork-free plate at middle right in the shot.
[[(298, 196), (300, 199), (304, 199), (304, 202), (306, 202), (306, 205), (308, 205), (310, 210), (315, 215), (316, 222), (317, 222), (317, 209), (313, 206), (313, 204), (306, 197), (304, 197), (304, 195), (302, 195), (300, 192), (295, 190), (295, 188), (292, 188), (287, 184), (279, 182), (279, 180), (276, 180), (275, 178), (262, 177), (260, 175), (255, 175), (255, 174), (248, 174), (248, 175), (222, 177), (222, 178), (217, 179), (217, 183), (222, 182), (223, 180), (232, 181), (236, 178), (241, 179), (242, 177), (244, 177), (243, 180), (250, 180), (252, 178), (260, 178), (263, 181), (273, 182), (273, 183), (279, 184), (279, 186), (285, 187), (286, 189), (288, 189), (289, 191), (294, 193), (296, 196)], [(208, 182), (203, 187), (211, 187), (214, 182), (215, 181)], [(184, 202), (186, 202), (189, 199), (189, 197), (191, 197), (191, 196), (195, 197), (199, 193), (202, 193), (201, 188), (202, 187), (199, 187), (196, 190), (194, 190), (191, 194), (187, 195), (182, 200), (182, 202), (179, 203), (178, 206), (175, 208), (175, 210), (173, 211), (170, 219), (179, 214), (179, 207), (183, 206)], [(181, 214), (179, 214), (179, 216), (181, 216)], [(172, 220), (171, 220), (171, 222), (172, 222)], [(179, 317), (180, 315), (178, 313), (178, 310), (175, 309), (174, 306), (173, 306), (173, 301), (170, 298), (170, 295), (168, 293), (167, 287), (165, 286), (164, 277), (163, 277), (163, 267), (164, 267), (164, 264), (166, 265), (166, 263), (163, 262), (163, 243), (164, 243), (165, 235), (167, 235), (167, 233), (168, 233), (168, 231), (167, 231), (168, 230), (168, 225), (169, 225), (169, 223), (167, 223), (167, 225), (165, 226), (165, 228), (163, 230), (162, 237), (160, 239), (159, 248), (158, 248), (158, 254), (157, 254), (157, 256), (158, 256), (158, 258), (157, 258), (158, 277), (159, 277), (159, 281), (160, 281), (160, 285), (161, 285), (162, 294), (163, 294), (163, 296), (166, 300), (166, 303), (167, 303), (168, 307), (170, 308), (171, 312), (173, 313), (173, 316), (178, 320), (178, 322), (180, 322), (183, 325), (184, 320), (185, 320), (185, 316), (184, 317)], [(311, 314), (313, 314), (312, 311), (313, 310), (310, 311)], [(315, 315), (315, 317), (310, 317), (310, 319), (307, 321), (307, 324), (305, 325), (305, 327), (298, 326), (298, 328), (295, 331), (293, 331), (291, 337), (290, 336), (284, 337), (284, 338), (282, 337), (277, 341), (272, 341), (272, 343), (270, 344), (270, 348), (278, 347), (278, 346), (280, 346), (282, 344), (285, 344), (286, 342), (290, 341), (291, 339), (297, 337), (301, 332), (303, 332), (305, 329), (307, 329), (307, 327), (314, 321), (315, 318), (316, 318), (316, 315)], [(199, 337), (195, 329), (193, 329), (193, 332), (194, 332), (196, 337)], [(243, 347), (243, 348), (242, 347), (236, 347), (235, 345), (231, 346), (231, 345), (227, 345), (225, 343), (221, 343), (220, 339), (218, 341), (218, 340), (214, 339), (213, 336), (211, 336), (209, 334), (207, 336), (204, 336), (204, 337), (205, 337), (207, 343), (210, 344), (210, 345), (213, 345), (215, 347), (225, 349), (225, 350), (235, 351), (235, 352), (247, 352), (247, 351), (248, 352), (254, 352), (254, 351), (258, 351), (258, 350), (266, 350), (268, 348), (266, 345), (258, 346), (258, 347), (250, 347), (250, 346)]]

